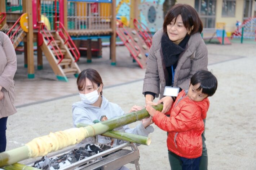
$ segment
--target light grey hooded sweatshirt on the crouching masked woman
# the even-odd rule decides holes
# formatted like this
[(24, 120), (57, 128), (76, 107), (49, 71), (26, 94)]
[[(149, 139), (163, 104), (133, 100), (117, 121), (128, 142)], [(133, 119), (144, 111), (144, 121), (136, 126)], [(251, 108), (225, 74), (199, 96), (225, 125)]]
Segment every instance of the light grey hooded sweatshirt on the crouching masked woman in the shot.
[[(92, 106), (83, 101), (79, 101), (72, 105), (72, 112), (74, 127), (76, 127), (76, 124), (78, 123), (91, 125), (94, 120), (100, 120), (103, 115), (106, 115), (107, 119), (124, 115), (124, 111), (120, 106), (109, 102), (104, 96), (102, 96), (101, 107)], [(154, 128), (152, 126), (144, 128), (142, 123), (140, 123), (135, 128), (129, 128), (128, 125), (124, 125), (123, 127), (114, 130), (147, 136), (149, 133), (154, 131)], [(111, 143), (111, 138), (98, 135), (98, 142), (108, 144)], [(124, 143), (124, 141), (114, 139), (113, 146), (117, 146), (122, 143)]]

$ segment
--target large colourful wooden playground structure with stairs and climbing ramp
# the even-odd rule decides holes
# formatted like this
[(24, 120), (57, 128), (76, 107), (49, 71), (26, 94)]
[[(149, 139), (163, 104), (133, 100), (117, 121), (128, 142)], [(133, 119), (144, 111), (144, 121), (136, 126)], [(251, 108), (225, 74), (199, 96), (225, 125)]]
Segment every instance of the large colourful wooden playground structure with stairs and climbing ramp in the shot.
[[(79, 50), (87, 51), (88, 63), (92, 51), (101, 56), (101, 38), (110, 38), (111, 65), (115, 65), (116, 33), (124, 44), (130, 44), (127, 48), (134, 61), (145, 67), (152, 43), (149, 29), (134, 19), (136, 30), (116, 30), (115, 12), (115, 1), (111, 0), (5, 0), (1, 1), (0, 29), (10, 37), (16, 50), (24, 50), (28, 78), (35, 76), (31, 49), (37, 50), (37, 69), (43, 69), (43, 52), (57, 79), (68, 81), (67, 75), (80, 73), (76, 64)], [(17, 48), (22, 41), (24, 45)]]

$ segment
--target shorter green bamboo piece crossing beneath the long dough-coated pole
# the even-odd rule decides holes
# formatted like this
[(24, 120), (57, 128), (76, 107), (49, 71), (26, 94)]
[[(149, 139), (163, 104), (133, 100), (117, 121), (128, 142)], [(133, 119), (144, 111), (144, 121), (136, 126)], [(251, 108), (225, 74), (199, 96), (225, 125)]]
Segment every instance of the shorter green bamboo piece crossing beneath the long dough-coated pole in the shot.
[[(87, 124), (78, 123), (76, 125), (77, 128), (80, 127), (86, 127)], [(110, 138), (116, 138), (123, 141), (133, 142), (133, 143), (139, 143), (149, 146), (151, 143), (151, 139), (146, 136), (131, 134), (131, 133), (125, 133), (125, 132), (119, 132), (111, 130), (109, 132), (105, 132), (101, 134), (102, 136), (110, 137)]]

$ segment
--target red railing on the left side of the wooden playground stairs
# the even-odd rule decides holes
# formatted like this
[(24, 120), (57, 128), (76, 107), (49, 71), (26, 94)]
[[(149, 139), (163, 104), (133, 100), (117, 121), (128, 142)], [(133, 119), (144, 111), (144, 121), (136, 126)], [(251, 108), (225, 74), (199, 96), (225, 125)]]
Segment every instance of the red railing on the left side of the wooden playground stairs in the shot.
[[(56, 55), (57, 58), (59, 59), (58, 64), (61, 63), (61, 61), (62, 61), (63, 58), (64, 58), (64, 56), (63, 56), (63, 54), (62, 54), (62, 52), (61, 52), (61, 49), (59, 48), (57, 42), (55, 41), (55, 39), (53, 38), (52, 34), (50, 33), (50, 31), (49, 31), (49, 30), (47, 29), (47, 27), (45, 26), (45, 24), (42, 23), (42, 22), (39, 23), (39, 24), (41, 24), (41, 27), (42, 27), (41, 32), (43, 33), (43, 35), (45, 35), (45, 38), (46, 38), (47, 41), (48, 41), (47, 46), (48, 46), (48, 45), (51, 46), (51, 49), (53, 49), (55, 55)], [(50, 38), (49, 38), (49, 37), (50, 37)], [(58, 54), (58, 52), (59, 52), (59, 54)]]

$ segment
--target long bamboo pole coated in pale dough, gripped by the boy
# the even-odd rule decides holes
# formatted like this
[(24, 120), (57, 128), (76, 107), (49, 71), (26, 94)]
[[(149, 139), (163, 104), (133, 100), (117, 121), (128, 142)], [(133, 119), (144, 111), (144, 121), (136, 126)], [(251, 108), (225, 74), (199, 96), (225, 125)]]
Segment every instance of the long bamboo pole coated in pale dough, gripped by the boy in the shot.
[[(153, 107), (158, 111), (162, 111), (163, 109), (162, 104)], [(97, 124), (88, 125), (84, 128), (71, 128), (35, 138), (25, 144), (25, 146), (1, 152), (0, 167), (11, 165), (31, 157), (45, 156), (47, 153), (80, 143), (85, 138), (105, 133), (147, 117), (149, 117), (149, 113), (146, 109), (142, 109)]]

